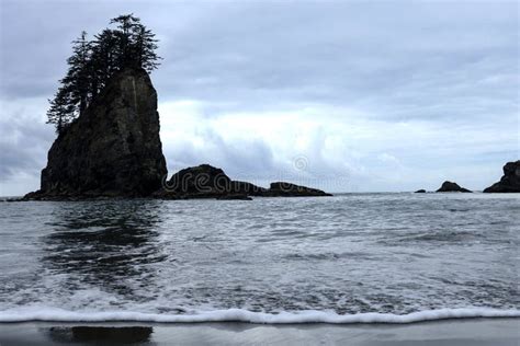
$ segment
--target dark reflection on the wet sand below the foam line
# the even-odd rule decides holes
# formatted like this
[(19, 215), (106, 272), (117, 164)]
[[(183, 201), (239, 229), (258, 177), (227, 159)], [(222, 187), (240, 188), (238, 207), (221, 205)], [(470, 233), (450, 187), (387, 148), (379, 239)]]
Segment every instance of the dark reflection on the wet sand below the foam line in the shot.
[(92, 343), (95, 345), (100, 343), (109, 345), (144, 343), (149, 341), (152, 332), (150, 326), (53, 326), (46, 330), (49, 339), (55, 343)]

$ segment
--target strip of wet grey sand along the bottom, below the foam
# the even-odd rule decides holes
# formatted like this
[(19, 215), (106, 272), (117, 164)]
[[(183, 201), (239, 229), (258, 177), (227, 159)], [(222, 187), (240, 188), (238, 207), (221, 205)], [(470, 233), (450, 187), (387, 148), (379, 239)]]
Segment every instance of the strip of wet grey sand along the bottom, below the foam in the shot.
[(0, 345), (520, 345), (520, 319), (411, 324), (1, 323)]

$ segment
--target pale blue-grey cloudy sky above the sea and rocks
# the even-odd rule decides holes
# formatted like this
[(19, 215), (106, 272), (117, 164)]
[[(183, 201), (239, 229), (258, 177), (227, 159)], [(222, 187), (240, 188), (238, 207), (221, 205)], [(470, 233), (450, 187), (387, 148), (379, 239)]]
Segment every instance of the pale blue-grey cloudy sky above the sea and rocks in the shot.
[(160, 39), (170, 174), (330, 192), (482, 189), (519, 153), (519, 2), (0, 0), (0, 195), (37, 189), (70, 42), (133, 12)]

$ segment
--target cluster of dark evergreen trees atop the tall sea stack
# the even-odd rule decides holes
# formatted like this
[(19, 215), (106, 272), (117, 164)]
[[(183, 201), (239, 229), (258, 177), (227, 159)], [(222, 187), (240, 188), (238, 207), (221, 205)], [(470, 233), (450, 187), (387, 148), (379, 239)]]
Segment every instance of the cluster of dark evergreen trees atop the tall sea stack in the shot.
[(110, 24), (116, 24), (116, 28), (104, 28), (90, 42), (83, 31), (72, 42), (67, 74), (59, 81), (61, 85), (49, 100), (47, 112), (47, 123), (54, 124), (58, 134), (83, 114), (118, 70), (143, 68), (150, 73), (159, 66), (158, 41), (138, 18), (124, 14)]

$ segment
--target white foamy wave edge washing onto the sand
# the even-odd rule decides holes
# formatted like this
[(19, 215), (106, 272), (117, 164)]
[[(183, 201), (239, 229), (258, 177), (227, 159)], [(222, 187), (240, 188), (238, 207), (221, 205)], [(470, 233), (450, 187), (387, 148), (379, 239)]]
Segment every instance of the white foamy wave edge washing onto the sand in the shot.
[(446, 319), (474, 318), (520, 318), (520, 310), (497, 310), (489, 308), (439, 309), (408, 314), (358, 313), (337, 314), (335, 312), (306, 310), (301, 312), (264, 313), (242, 309), (202, 311), (193, 314), (155, 314), (144, 312), (75, 312), (61, 309), (18, 309), (0, 311), (0, 323), (4, 322), (155, 322), (155, 323), (202, 323), (202, 322), (247, 322), (261, 324), (296, 323), (388, 323), (405, 324)]

